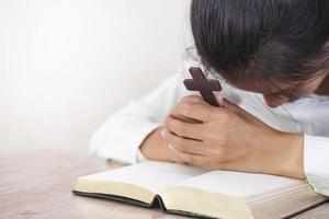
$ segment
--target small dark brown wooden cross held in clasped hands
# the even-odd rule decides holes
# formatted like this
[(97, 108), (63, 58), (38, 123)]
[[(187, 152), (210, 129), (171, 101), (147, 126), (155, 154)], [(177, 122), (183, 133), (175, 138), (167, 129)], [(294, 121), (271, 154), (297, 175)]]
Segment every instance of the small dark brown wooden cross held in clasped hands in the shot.
[(193, 79), (185, 79), (184, 85), (189, 91), (200, 91), (203, 100), (213, 106), (222, 106), (213, 91), (222, 91), (222, 85), (217, 80), (207, 80), (201, 68), (191, 67), (189, 69)]

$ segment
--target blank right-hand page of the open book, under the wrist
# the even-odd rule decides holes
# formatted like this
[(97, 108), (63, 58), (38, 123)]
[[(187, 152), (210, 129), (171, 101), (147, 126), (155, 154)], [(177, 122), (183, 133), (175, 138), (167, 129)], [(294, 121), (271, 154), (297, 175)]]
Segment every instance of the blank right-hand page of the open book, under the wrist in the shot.
[(303, 183), (305, 182), (266, 174), (212, 171), (180, 182), (173, 186), (182, 185), (247, 198)]

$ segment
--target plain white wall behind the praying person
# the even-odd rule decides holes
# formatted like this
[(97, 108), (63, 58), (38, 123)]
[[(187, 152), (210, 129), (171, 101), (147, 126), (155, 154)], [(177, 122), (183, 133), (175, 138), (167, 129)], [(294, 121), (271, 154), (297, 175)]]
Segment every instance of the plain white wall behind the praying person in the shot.
[(86, 150), (181, 62), (188, 0), (0, 0), (0, 152)]

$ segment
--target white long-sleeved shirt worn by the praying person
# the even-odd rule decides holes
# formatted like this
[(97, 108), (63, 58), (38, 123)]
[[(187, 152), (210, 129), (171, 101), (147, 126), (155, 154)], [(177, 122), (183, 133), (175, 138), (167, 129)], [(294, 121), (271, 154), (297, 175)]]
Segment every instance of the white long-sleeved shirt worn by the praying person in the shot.
[[(95, 131), (91, 151), (126, 163), (146, 160), (139, 146), (185, 95), (188, 74), (175, 73), (143, 99), (129, 102)], [(209, 78), (209, 77), (208, 77)], [(311, 95), (276, 108), (262, 95), (235, 89), (220, 81), (224, 96), (271, 127), (304, 135), (304, 169), (314, 189), (329, 196), (329, 96)]]

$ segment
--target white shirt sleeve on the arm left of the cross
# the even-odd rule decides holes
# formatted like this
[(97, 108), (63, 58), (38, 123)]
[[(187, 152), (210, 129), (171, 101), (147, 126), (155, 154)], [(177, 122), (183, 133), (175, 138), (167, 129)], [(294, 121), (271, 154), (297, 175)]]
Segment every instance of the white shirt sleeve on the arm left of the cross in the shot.
[(140, 100), (131, 101), (110, 116), (93, 134), (90, 152), (124, 163), (147, 160), (139, 151), (144, 139), (161, 126), (163, 118), (186, 93), (183, 77), (175, 73)]

